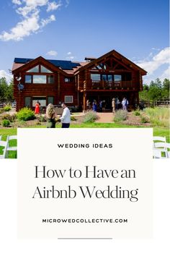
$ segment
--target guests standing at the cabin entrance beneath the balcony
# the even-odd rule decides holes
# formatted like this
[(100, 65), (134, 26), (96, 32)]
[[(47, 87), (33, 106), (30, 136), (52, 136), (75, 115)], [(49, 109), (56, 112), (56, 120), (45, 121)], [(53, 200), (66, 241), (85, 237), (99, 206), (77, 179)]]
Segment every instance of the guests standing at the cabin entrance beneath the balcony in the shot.
[[(119, 100), (119, 98), (112, 98), (112, 112), (115, 113), (118, 109), (123, 109), (123, 110), (128, 110), (128, 100), (127, 98), (123, 98), (122, 101)], [(86, 101), (86, 110), (92, 110), (92, 111), (99, 111), (99, 112), (104, 112), (106, 109), (106, 101), (102, 100), (97, 103), (96, 100), (94, 100), (92, 103), (87, 100)]]

